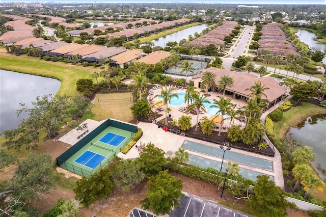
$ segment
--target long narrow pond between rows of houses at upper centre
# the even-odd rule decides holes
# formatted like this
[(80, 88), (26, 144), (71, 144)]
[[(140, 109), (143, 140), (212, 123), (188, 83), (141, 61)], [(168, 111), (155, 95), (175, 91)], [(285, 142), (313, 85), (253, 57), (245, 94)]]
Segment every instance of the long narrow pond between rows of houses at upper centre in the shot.
[(172, 33), (164, 37), (160, 37), (159, 39), (153, 40), (152, 42), (154, 42), (154, 46), (161, 46), (164, 48), (165, 45), (170, 41), (176, 41), (177, 43), (179, 43), (182, 39), (188, 39), (189, 35), (194, 36), (196, 32), (200, 34), (207, 27), (208, 27), (207, 24), (195, 25), (189, 27), (188, 29), (181, 30), (176, 33)]

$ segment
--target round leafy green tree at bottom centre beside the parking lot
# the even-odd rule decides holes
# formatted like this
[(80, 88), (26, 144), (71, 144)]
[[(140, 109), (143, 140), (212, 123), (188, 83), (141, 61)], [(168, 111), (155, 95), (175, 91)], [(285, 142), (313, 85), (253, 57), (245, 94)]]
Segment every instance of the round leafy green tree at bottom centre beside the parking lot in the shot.
[(147, 182), (146, 198), (141, 201), (142, 208), (153, 209), (156, 215), (170, 214), (173, 207), (180, 206), (178, 199), (183, 196), (182, 180), (170, 175), (167, 170), (160, 171)]

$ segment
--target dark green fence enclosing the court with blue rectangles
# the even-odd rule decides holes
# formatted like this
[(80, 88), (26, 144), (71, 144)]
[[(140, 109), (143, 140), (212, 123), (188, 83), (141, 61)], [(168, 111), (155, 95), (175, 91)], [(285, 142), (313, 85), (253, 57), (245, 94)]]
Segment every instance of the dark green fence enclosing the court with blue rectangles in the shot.
[[(119, 129), (123, 129), (126, 131), (129, 131), (131, 133), (130, 138), (128, 138), (121, 146), (120, 150), (115, 149), (112, 153), (110, 153), (106, 158), (104, 162), (101, 162), (94, 170), (91, 169), (83, 169), (82, 167), (78, 167), (77, 165), (70, 164), (69, 162), (66, 162), (72, 155), (74, 155), (76, 152), (78, 152), (80, 149), (85, 147), (87, 144), (89, 144), (92, 139), (94, 139), (98, 134), (100, 134), (103, 130), (105, 130), (107, 127), (112, 126)], [(57, 164), (59, 167), (68, 170), (72, 173), (75, 173), (80, 176), (85, 176), (86, 178), (89, 178), (90, 175), (96, 173), (100, 168), (105, 167), (108, 162), (110, 162), (114, 156), (116, 156), (130, 141), (132, 138), (132, 135), (137, 132), (138, 127), (132, 124), (120, 122), (113, 119), (107, 119), (105, 122), (103, 122), (101, 125), (99, 125), (97, 128), (95, 128), (93, 131), (91, 131), (88, 135), (86, 135), (83, 139), (81, 139), (79, 142), (71, 146), (67, 151), (65, 151), (63, 154), (61, 154), (59, 157), (57, 157)]]

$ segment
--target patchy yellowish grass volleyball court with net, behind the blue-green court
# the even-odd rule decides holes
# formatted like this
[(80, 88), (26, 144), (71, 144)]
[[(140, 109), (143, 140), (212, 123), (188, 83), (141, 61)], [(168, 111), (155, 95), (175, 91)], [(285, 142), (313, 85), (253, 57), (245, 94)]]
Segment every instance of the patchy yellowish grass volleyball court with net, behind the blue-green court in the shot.
[[(102, 121), (108, 118), (114, 118), (125, 122), (130, 122), (133, 119), (131, 110), (129, 109), (133, 104), (131, 93), (115, 93), (115, 94), (96, 94), (93, 101), (94, 120)], [(117, 100), (118, 99), (118, 100)], [(119, 100), (122, 99), (122, 100)], [(124, 100), (124, 99), (129, 99)], [(102, 100), (100, 104), (99, 100)], [(103, 102), (110, 101), (110, 102)]]

